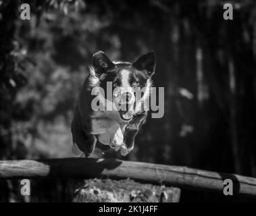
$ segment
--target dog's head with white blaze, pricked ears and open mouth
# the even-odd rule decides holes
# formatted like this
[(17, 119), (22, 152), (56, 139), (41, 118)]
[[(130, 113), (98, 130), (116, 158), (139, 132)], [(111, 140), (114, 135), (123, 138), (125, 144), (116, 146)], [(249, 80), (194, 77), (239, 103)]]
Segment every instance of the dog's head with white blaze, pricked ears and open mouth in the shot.
[[(140, 56), (134, 63), (111, 61), (103, 51), (93, 55), (93, 77), (96, 79), (94, 82), (105, 92), (109, 91), (109, 84), (111, 85), (110, 100), (118, 105), (122, 121), (130, 121), (132, 115), (138, 112), (136, 103), (149, 96), (151, 76), (154, 72), (154, 51)], [(105, 99), (109, 100), (107, 95)]]

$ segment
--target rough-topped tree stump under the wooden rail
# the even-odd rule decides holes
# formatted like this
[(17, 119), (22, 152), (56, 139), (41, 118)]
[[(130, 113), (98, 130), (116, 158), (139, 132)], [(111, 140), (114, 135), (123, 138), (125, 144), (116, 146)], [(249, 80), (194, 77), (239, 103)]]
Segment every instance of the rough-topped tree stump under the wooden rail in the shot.
[(72, 202), (178, 202), (180, 189), (133, 180), (90, 179), (72, 182)]

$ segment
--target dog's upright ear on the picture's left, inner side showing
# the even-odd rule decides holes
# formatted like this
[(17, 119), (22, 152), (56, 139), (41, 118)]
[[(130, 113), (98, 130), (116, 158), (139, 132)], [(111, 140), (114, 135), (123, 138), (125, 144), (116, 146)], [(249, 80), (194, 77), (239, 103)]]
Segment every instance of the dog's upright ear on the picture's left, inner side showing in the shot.
[(93, 55), (93, 68), (98, 74), (102, 74), (115, 68), (115, 64), (110, 61), (103, 51), (98, 51)]

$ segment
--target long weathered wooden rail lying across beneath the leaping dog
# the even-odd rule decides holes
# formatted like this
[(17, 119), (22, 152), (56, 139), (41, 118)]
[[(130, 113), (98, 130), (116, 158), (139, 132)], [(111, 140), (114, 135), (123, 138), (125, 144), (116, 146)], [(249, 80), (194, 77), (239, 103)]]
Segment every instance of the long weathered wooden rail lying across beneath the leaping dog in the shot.
[(233, 182), (234, 195), (256, 196), (256, 179), (188, 167), (117, 159), (66, 158), (45, 161), (0, 161), (0, 179), (12, 178), (130, 178), (195, 190), (223, 192), (224, 180)]

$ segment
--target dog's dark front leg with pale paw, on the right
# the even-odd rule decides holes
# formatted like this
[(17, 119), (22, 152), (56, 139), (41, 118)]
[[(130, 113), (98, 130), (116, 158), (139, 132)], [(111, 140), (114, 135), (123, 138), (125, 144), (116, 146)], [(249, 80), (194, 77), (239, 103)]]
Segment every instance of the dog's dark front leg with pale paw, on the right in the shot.
[(140, 113), (129, 122), (124, 131), (124, 144), (120, 149), (121, 155), (126, 156), (134, 147), (134, 138), (147, 118), (147, 112)]

